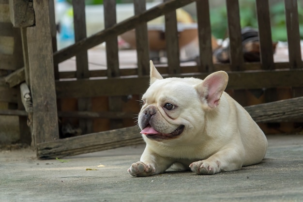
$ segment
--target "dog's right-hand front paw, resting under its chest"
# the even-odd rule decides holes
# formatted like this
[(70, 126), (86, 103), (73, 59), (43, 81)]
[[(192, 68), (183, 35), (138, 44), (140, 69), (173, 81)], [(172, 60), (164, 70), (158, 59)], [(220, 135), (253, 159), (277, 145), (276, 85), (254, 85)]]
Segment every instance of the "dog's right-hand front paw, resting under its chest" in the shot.
[(206, 160), (196, 161), (189, 165), (190, 169), (197, 174), (215, 174), (220, 172), (220, 163)]

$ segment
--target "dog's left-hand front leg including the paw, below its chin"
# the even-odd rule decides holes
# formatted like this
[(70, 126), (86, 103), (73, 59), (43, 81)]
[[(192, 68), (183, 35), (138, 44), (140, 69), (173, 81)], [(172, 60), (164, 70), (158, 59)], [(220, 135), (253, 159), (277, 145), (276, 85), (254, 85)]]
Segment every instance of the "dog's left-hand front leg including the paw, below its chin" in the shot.
[(140, 161), (133, 163), (127, 171), (137, 177), (151, 176), (165, 172), (173, 163), (174, 161), (171, 159), (154, 155), (145, 150)]

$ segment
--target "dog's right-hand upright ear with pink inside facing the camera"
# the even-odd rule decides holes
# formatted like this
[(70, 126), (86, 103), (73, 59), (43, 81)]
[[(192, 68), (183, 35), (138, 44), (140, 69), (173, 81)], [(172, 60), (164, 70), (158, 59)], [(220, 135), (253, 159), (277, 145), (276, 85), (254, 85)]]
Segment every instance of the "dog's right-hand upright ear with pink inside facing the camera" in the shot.
[(206, 100), (210, 108), (217, 107), (227, 82), (228, 75), (224, 71), (214, 72), (207, 76), (200, 84), (196, 85), (201, 101)]

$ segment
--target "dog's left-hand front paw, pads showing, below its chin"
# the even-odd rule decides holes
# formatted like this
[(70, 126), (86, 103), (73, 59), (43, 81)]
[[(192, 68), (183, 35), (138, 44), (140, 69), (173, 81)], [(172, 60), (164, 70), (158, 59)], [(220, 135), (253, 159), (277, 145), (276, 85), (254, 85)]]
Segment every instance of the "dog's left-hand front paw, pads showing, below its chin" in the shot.
[(145, 164), (141, 161), (138, 161), (136, 163), (133, 163), (127, 171), (133, 176), (145, 177), (153, 175), (155, 168), (151, 164)]

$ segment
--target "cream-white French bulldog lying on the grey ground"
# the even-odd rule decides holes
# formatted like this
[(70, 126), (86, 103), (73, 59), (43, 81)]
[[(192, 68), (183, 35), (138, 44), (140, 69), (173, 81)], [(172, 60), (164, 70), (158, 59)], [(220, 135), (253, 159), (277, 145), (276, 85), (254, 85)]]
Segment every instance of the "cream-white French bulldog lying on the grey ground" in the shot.
[(267, 140), (248, 112), (224, 92), (228, 75), (165, 78), (150, 62), (150, 87), (142, 96), (138, 125), (146, 142), (128, 172), (150, 176), (173, 164), (197, 174), (235, 171), (259, 163)]

